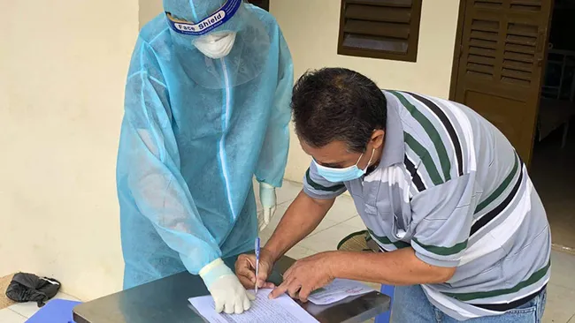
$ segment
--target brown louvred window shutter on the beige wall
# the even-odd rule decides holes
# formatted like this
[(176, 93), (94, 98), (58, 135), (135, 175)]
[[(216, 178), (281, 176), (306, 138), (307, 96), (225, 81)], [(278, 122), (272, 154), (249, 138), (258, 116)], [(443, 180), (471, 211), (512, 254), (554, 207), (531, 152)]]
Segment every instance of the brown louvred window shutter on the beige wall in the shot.
[(415, 62), (422, 0), (342, 0), (338, 53)]

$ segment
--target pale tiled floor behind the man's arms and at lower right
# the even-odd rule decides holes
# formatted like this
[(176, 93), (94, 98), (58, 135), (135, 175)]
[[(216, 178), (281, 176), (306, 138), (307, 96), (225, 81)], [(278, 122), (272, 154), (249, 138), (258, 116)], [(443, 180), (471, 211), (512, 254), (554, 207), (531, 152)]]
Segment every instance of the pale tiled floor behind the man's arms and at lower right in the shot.
[[(281, 216), (301, 189), (301, 184), (284, 182), (284, 186), (278, 192), (281, 204), (272, 222), (261, 234), (264, 240), (267, 241), (272, 236)], [(575, 222), (573, 224), (575, 225)], [(317, 252), (335, 250), (341, 238), (361, 229), (364, 229), (364, 224), (357, 215), (353, 200), (348, 196), (341, 196), (326, 215), (326, 219), (319, 224), (318, 229), (295, 245), (288, 252), (288, 256), (301, 259)], [(571, 231), (571, 235), (575, 236), (575, 230)], [(575, 304), (575, 278), (573, 278), (575, 256), (554, 251), (551, 262), (552, 275), (551, 282), (548, 283), (548, 301), (543, 322), (575, 323), (575, 306), (573, 306)]]

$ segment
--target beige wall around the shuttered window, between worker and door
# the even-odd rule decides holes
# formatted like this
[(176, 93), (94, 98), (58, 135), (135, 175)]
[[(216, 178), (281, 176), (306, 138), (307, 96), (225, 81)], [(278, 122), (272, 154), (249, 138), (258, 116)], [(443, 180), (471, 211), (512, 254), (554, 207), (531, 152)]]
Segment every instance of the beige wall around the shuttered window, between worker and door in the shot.
[[(418, 62), (337, 55), (339, 0), (271, 0), (294, 59), (295, 77), (308, 69), (347, 67), (375, 80), (382, 88), (410, 90), (447, 98), (455, 44), (458, 0), (424, 1)], [(310, 159), (292, 131), (286, 177), (301, 182)]]

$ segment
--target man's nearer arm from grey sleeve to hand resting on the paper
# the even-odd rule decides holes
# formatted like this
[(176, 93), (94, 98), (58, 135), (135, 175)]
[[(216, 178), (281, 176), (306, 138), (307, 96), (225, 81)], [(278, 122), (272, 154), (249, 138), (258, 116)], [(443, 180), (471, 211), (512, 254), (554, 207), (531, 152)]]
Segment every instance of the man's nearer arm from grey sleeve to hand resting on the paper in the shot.
[(305, 301), (334, 278), (392, 285), (448, 282), (464, 257), (479, 197), (474, 173), (428, 188), (411, 199), (410, 247), (386, 253), (322, 252), (298, 260), (272, 297), (288, 292)]

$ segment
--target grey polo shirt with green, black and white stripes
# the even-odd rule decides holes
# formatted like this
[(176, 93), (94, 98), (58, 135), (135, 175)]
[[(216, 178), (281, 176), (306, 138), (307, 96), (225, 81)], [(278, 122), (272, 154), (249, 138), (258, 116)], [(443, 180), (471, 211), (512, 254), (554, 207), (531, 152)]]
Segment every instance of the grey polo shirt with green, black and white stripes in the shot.
[(497, 315), (545, 287), (551, 236), (537, 192), (513, 146), (472, 109), (422, 94), (384, 91), (387, 125), (380, 164), (331, 183), (311, 164), (304, 192), (333, 199), (346, 190), (386, 252), (410, 246), (448, 282), (424, 284), (455, 319)]

